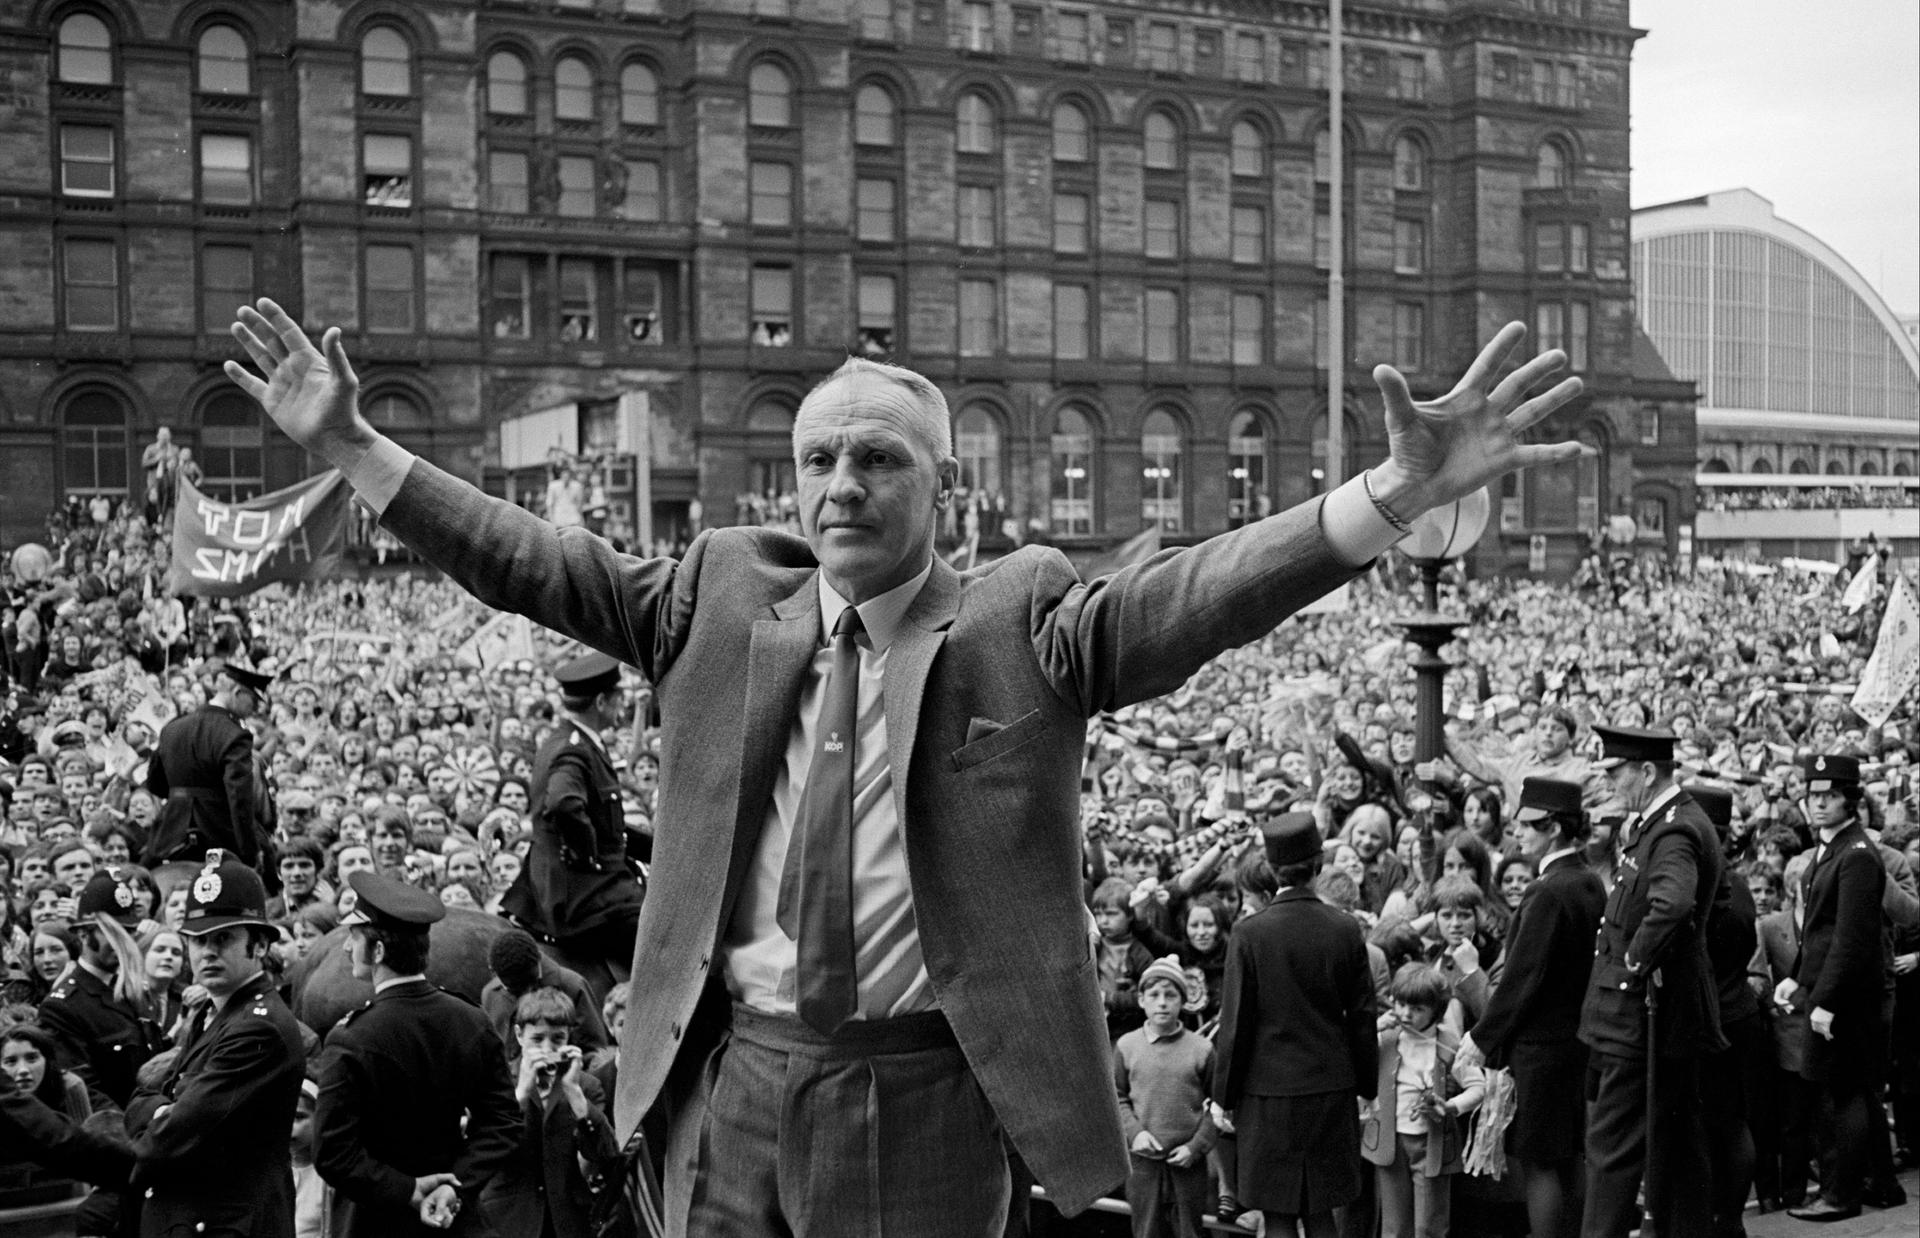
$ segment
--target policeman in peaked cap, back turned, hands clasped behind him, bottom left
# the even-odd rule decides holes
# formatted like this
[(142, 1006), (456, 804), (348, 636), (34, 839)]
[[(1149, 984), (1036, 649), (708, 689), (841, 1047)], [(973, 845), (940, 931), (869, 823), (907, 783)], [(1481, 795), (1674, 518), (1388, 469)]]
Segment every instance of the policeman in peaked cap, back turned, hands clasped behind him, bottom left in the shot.
[(374, 996), (334, 1025), (321, 1059), (313, 1163), (334, 1188), (330, 1232), (463, 1232), (474, 1196), (518, 1148), (507, 1059), (480, 1008), (426, 979), (440, 898), (378, 873), (348, 885), (346, 952)]

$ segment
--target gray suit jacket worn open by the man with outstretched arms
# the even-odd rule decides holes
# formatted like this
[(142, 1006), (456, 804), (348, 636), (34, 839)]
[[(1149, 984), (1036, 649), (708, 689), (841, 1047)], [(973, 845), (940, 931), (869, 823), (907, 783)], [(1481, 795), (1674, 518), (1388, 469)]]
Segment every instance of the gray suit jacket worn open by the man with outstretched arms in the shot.
[[(716, 1035), (720, 937), (822, 641), (818, 564), (799, 537), (758, 528), (703, 534), (680, 560), (632, 559), (426, 463), (382, 520), (480, 601), (655, 683), (657, 837), (614, 1098), (624, 1142), (676, 1061), (699, 1063)], [(1064, 1211), (1127, 1175), (1081, 904), (1087, 718), (1173, 691), (1352, 576), (1317, 501), (1092, 583), (1043, 547), (966, 574), (935, 560), (887, 655), (893, 795), (927, 975), (1010, 1142)], [(975, 718), (998, 726), (970, 741)]]

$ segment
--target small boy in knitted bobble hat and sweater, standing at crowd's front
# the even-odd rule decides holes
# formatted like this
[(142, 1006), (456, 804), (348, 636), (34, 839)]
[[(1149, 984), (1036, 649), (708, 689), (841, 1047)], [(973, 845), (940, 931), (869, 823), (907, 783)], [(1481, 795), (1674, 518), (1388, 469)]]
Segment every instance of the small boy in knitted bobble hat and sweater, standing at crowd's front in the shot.
[(1135, 1238), (1198, 1238), (1206, 1202), (1206, 1154), (1213, 1119), (1206, 1107), (1213, 1046), (1181, 1025), (1187, 975), (1175, 956), (1140, 973), (1146, 1025), (1114, 1046), (1114, 1086), (1127, 1134), (1127, 1203)]

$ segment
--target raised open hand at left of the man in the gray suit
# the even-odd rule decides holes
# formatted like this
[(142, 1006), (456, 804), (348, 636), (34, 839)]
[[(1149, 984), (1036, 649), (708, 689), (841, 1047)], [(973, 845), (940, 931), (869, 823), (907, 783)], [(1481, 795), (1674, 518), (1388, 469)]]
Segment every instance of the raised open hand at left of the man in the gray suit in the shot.
[(359, 413), (359, 378), (340, 345), (340, 328), (326, 328), (315, 347), (284, 309), (261, 298), (257, 307), (240, 307), (230, 330), (259, 374), (228, 361), (227, 376), (313, 455), (342, 470), (359, 463), (376, 434)]

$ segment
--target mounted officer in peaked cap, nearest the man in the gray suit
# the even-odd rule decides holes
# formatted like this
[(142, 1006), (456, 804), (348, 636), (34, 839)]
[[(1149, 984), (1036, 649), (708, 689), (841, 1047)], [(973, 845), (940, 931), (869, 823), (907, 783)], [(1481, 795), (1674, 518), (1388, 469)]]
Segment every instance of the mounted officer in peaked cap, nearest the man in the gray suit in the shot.
[(639, 929), (620, 783), (601, 731), (622, 722), (620, 664), (589, 653), (555, 674), (564, 716), (534, 758), (534, 848), (501, 910), (536, 937), (624, 967)]

